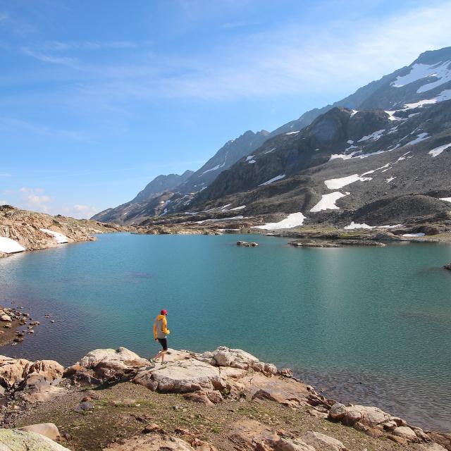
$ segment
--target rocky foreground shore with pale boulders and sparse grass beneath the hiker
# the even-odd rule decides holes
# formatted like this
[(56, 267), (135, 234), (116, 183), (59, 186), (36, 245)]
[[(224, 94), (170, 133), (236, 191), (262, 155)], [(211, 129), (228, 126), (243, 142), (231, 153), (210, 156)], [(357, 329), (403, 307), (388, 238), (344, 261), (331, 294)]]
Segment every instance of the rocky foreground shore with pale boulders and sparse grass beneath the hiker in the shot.
[[(451, 450), (451, 434), (327, 399), (290, 369), (242, 350), (170, 350), (167, 357), (152, 366), (124, 347), (94, 350), (64, 369), (0, 356), (0, 444), (30, 451)], [(63, 447), (36, 444), (33, 431)]]

